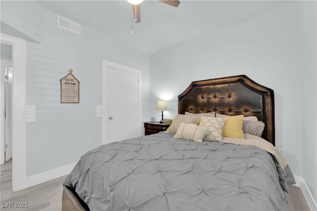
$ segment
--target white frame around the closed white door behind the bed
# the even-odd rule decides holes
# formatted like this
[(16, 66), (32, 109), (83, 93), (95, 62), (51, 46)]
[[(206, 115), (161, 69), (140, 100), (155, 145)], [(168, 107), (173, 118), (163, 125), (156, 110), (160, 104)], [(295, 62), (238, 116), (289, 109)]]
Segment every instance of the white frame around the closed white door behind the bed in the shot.
[(142, 70), (133, 67), (121, 65), (118, 63), (102, 60), (102, 144), (108, 143), (108, 67), (124, 70), (138, 74), (139, 76), (139, 118), (138, 118), (138, 136), (142, 136)]

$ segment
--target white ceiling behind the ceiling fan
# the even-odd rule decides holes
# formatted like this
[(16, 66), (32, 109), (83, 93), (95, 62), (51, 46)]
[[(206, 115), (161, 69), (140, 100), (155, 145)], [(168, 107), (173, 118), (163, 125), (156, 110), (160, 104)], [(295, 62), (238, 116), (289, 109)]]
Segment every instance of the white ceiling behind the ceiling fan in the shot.
[[(287, 3), (286, 0), (181, 0), (176, 7), (157, 0), (141, 3), (141, 23), (133, 22), (126, 0), (41, 0), (43, 7), (146, 53)], [(133, 34), (131, 34), (133, 26)]]

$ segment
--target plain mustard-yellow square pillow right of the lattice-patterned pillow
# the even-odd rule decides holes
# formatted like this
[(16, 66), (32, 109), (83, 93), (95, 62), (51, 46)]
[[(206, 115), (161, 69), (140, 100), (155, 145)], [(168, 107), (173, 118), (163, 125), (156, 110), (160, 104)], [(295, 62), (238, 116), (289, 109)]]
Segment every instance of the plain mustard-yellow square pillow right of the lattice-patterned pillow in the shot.
[(222, 136), (244, 139), (242, 130), (243, 117), (243, 115), (226, 117), (222, 127)]

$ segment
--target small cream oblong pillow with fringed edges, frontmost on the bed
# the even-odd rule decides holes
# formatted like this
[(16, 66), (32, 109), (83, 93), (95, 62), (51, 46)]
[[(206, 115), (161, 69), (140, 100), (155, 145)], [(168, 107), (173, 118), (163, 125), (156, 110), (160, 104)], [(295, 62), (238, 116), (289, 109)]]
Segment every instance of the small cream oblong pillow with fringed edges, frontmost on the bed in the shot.
[(196, 124), (180, 123), (174, 138), (184, 138), (196, 142), (202, 142), (203, 137), (207, 132), (208, 128), (206, 127), (199, 127)]

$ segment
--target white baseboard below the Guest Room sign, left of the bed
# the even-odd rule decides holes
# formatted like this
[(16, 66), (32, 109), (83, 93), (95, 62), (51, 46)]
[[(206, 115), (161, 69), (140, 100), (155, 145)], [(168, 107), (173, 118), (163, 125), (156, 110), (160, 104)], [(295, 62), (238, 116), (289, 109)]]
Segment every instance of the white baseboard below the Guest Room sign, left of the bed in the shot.
[(56, 169), (52, 169), (42, 173), (28, 176), (25, 179), (24, 187), (22, 189), (67, 175), (71, 172), (71, 170), (75, 167), (75, 165), (76, 163), (73, 163), (67, 166), (59, 167)]

